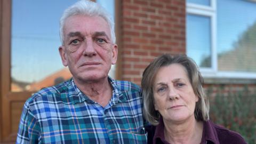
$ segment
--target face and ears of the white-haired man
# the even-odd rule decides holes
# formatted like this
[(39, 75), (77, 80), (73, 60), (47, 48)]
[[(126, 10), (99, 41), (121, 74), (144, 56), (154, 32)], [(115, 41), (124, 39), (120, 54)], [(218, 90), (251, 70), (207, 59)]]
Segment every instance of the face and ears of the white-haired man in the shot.
[(110, 28), (101, 17), (74, 15), (63, 27), (62, 63), (75, 81), (100, 81), (116, 63), (117, 45), (111, 43)]

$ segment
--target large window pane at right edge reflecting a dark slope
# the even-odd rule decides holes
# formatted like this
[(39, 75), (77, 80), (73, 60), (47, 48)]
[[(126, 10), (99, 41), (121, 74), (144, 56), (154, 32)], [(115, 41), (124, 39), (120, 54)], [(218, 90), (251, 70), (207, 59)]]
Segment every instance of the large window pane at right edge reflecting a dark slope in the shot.
[(217, 2), (218, 69), (256, 72), (256, 3)]

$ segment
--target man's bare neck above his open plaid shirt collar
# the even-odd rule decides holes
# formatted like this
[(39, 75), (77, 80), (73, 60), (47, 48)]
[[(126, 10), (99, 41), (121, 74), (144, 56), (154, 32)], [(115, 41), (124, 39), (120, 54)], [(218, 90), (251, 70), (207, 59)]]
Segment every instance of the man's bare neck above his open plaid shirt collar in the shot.
[(108, 82), (108, 78), (90, 82), (76, 81), (74, 79), (74, 82), (79, 90), (102, 107), (107, 106), (112, 97), (112, 87)]

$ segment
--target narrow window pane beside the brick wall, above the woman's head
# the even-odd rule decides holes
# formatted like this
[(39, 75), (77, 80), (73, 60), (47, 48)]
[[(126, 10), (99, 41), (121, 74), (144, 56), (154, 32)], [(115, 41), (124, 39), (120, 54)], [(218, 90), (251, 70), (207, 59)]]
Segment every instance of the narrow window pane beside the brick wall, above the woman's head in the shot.
[(210, 18), (187, 14), (187, 55), (199, 67), (211, 67)]

